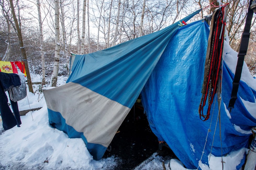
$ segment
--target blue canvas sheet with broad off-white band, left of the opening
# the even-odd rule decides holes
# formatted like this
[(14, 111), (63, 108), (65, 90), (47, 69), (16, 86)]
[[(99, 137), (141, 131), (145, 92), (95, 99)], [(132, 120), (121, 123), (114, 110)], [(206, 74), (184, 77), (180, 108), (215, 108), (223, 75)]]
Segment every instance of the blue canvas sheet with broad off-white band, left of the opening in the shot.
[(50, 124), (70, 138), (81, 137), (93, 159), (101, 159), (178, 28), (175, 23), (76, 57), (67, 84), (43, 90)]

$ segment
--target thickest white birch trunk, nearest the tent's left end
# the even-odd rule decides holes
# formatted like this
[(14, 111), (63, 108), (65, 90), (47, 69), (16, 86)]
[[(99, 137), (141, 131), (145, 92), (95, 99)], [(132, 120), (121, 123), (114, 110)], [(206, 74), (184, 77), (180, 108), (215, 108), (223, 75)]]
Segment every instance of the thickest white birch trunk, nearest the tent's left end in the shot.
[(60, 58), (60, 30), (59, 30), (59, 0), (54, 1), (55, 8), (55, 56), (53, 74), (51, 80), (51, 87), (57, 86), (58, 70), (59, 70), (59, 58)]

